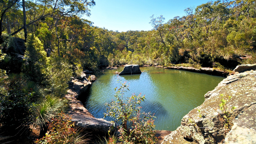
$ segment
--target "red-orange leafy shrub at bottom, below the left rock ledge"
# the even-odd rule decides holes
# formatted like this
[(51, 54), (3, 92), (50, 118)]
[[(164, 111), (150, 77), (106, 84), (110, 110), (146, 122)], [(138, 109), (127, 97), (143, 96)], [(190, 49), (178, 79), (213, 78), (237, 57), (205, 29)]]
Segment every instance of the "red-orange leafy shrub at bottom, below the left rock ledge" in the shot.
[(35, 144), (87, 144), (89, 138), (74, 128), (75, 123), (71, 117), (63, 113), (52, 118), (49, 123), (50, 133), (41, 139), (37, 139)]

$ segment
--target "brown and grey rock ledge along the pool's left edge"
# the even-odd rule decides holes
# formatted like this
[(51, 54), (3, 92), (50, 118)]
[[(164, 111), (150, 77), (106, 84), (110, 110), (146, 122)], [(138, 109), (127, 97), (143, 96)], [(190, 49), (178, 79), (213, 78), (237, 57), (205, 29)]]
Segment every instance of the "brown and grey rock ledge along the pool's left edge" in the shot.
[(85, 132), (90, 134), (107, 133), (111, 123), (102, 118), (95, 118), (90, 112), (83, 107), (81, 101), (77, 100), (86, 92), (92, 83), (87, 80), (86, 74), (82, 73), (81, 77), (72, 78), (69, 82), (68, 94), (64, 97), (69, 100), (69, 108), (67, 114), (72, 116), (72, 120), (76, 126), (83, 128)]

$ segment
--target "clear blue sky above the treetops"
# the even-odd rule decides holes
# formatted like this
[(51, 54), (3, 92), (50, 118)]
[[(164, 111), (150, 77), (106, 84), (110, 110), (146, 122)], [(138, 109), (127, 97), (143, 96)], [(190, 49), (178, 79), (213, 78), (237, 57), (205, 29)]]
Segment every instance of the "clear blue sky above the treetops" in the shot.
[(186, 15), (184, 9), (196, 7), (209, 0), (94, 0), (96, 5), (90, 17), (83, 19), (94, 22), (94, 26), (108, 30), (151, 30), (150, 16), (163, 15), (164, 22), (175, 16)]

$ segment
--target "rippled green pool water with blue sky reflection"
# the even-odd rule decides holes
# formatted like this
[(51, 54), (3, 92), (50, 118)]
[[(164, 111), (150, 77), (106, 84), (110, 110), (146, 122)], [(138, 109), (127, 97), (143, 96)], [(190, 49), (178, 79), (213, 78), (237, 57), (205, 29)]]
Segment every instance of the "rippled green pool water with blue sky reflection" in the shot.
[[(106, 112), (104, 104), (114, 99), (114, 88), (117, 83), (115, 71), (122, 71), (123, 67), (105, 70), (97, 77), (97, 81), (90, 87), (84, 105), (96, 118), (103, 118)], [(224, 77), (193, 73), (183, 70), (163, 69), (156, 67), (141, 67), (142, 74), (119, 76), (122, 81), (130, 83), (132, 94), (145, 95), (142, 111), (151, 112), (155, 119), (156, 130), (175, 130), (181, 125), (183, 116), (204, 102), (204, 94), (213, 90)], [(110, 120), (110, 118), (106, 118)]]

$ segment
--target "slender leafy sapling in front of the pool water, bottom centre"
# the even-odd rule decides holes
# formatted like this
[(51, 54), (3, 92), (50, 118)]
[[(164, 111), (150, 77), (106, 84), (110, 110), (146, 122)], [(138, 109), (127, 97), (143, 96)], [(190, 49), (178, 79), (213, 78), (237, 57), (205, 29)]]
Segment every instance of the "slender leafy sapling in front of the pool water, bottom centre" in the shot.
[(129, 85), (126, 82), (118, 80), (120, 88), (115, 88), (115, 101), (106, 103), (106, 116), (113, 117), (114, 123), (117, 124), (117, 129), (120, 132), (119, 139), (124, 143), (154, 143), (155, 142), (155, 128), (154, 116), (150, 113), (140, 113), (139, 106), (145, 97), (141, 95), (132, 95), (125, 98)]

